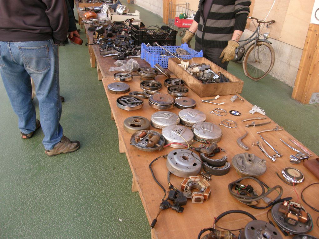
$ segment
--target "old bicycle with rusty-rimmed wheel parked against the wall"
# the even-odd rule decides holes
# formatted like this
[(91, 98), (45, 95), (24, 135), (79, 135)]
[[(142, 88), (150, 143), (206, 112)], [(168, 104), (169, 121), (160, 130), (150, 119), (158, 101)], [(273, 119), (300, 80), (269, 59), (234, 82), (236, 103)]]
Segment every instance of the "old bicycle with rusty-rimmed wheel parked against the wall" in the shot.
[[(247, 39), (240, 40), (245, 41), (244, 44), (236, 48), (234, 62), (240, 63), (242, 61), (242, 68), (246, 76), (254, 81), (258, 81), (263, 77), (267, 76), (271, 71), (275, 63), (275, 51), (270, 44), (269, 33), (263, 33), (264, 39), (260, 39), (260, 26), (261, 24), (267, 24), (266, 27), (269, 27), (275, 22), (263, 21), (254, 17), (248, 17), (250, 19), (256, 20), (258, 23), (256, 31)], [(250, 42), (253, 42), (251, 45), (245, 49)]]

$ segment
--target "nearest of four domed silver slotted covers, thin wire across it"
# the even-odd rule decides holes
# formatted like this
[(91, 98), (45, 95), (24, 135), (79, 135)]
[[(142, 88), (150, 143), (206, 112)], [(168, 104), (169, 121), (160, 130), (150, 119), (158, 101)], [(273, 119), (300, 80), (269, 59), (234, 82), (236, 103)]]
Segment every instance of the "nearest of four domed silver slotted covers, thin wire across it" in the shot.
[[(162, 129), (162, 134), (165, 138), (165, 142), (167, 144), (169, 143), (182, 143), (184, 145), (187, 145), (187, 143), (190, 145), (194, 139), (193, 132), (182, 125), (170, 125)], [(185, 142), (187, 141), (187, 143)], [(182, 145), (179, 144), (171, 144), (169, 147), (172, 148), (185, 148)]]

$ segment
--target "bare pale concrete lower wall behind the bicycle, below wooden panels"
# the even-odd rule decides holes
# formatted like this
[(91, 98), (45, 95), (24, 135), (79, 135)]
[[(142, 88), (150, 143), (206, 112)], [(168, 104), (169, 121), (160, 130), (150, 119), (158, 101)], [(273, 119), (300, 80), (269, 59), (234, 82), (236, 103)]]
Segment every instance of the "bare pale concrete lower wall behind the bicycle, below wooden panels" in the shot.
[[(253, 32), (245, 29), (241, 39), (247, 39)], [(263, 37), (261, 37), (263, 39)], [(275, 50), (275, 64), (269, 73), (283, 83), (293, 87), (301, 59), (302, 49), (282, 41), (268, 39)], [(250, 45), (250, 44), (249, 44)]]

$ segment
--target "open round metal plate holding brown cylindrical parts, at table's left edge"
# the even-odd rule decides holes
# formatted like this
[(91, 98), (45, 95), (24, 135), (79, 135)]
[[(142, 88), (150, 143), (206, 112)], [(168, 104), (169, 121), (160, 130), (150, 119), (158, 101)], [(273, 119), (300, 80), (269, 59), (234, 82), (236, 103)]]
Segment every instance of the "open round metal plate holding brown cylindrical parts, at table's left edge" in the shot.
[(134, 147), (143, 150), (143, 151), (155, 151), (155, 150), (161, 150), (163, 149), (163, 146), (165, 144), (165, 140), (162, 134), (160, 134), (157, 131), (154, 130), (147, 130), (148, 133), (152, 133), (153, 135), (158, 135), (159, 136), (159, 141), (153, 146), (153, 147), (147, 147), (147, 144), (150, 140), (150, 137), (148, 137), (147, 135), (145, 137), (143, 137), (142, 140), (136, 142), (135, 141), (135, 137), (140, 135), (143, 131), (145, 130), (139, 130), (136, 133), (132, 134), (131, 136), (131, 145), (133, 145)]

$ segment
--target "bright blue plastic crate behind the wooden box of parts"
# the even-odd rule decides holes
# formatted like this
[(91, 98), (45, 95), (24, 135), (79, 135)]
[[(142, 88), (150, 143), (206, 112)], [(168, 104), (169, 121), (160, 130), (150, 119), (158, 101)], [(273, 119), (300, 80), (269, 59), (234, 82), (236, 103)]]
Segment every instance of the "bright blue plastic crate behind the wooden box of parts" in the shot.
[[(167, 51), (171, 53), (176, 53), (177, 48), (182, 48), (189, 52), (189, 55), (177, 55), (178, 58), (182, 60), (192, 59), (193, 57), (203, 57), (203, 51), (197, 52), (192, 48), (189, 48), (187, 44), (182, 44), (181, 46), (167, 46), (164, 47)], [(151, 67), (154, 67), (156, 63), (158, 63), (161, 67), (167, 69), (168, 68), (168, 58), (172, 58), (174, 56), (170, 55), (167, 51), (162, 49), (161, 47), (146, 47), (144, 43), (141, 46), (141, 59), (147, 61)], [(165, 55), (164, 55), (165, 54)], [(167, 54), (167, 55), (166, 55)]]

